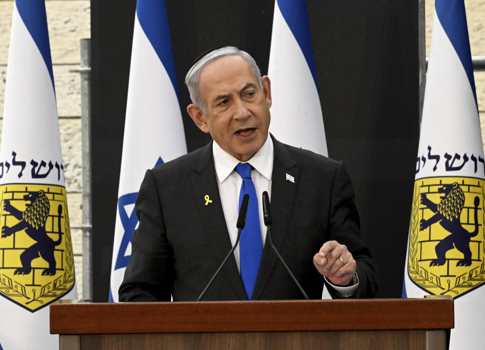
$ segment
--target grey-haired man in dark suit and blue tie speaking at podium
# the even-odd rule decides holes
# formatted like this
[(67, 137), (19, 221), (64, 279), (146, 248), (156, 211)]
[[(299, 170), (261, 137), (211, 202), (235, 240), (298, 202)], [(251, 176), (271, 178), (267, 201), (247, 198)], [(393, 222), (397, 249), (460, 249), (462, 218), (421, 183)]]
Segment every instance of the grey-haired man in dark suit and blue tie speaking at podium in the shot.
[[(185, 82), (193, 102), (187, 112), (213, 141), (147, 171), (120, 301), (196, 300), (235, 243), (245, 181), (254, 186), (254, 203), (270, 193), (273, 242), (310, 298), (321, 298), (324, 283), (332, 297), (374, 296), (376, 266), (343, 164), (269, 135), (271, 83), (252, 57), (217, 49), (192, 66)], [(239, 176), (239, 163), (249, 163), (249, 180)], [(252, 227), (262, 252), (240, 243), (204, 300), (302, 298), (269, 246), (261, 208), (250, 202), (251, 208), (259, 211)], [(250, 235), (245, 230), (241, 242)], [(256, 261), (254, 277), (247, 259)]]

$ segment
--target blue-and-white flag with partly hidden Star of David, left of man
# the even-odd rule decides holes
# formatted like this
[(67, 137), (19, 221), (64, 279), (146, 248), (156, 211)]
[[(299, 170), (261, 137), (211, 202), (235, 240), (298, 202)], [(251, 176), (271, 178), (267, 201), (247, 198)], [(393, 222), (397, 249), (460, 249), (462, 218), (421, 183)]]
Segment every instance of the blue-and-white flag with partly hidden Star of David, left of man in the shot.
[[(130, 261), (138, 225), (134, 204), (147, 169), (187, 153), (164, 0), (136, 4), (123, 156), (111, 267), (110, 302)], [(167, 184), (168, 186), (170, 184)]]

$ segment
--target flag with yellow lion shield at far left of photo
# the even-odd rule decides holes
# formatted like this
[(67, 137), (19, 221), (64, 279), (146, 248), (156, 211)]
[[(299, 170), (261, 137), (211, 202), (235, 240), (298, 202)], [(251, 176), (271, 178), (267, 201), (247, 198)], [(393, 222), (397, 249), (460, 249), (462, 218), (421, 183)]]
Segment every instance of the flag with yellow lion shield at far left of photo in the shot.
[(58, 348), (47, 306), (77, 289), (43, 0), (15, 0), (0, 202), (0, 344)]

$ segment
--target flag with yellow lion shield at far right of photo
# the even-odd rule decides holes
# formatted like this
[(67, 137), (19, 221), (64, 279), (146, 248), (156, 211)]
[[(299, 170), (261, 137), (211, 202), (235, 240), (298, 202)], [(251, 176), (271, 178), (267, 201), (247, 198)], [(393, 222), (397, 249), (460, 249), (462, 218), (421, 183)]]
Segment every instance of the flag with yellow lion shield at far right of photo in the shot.
[(483, 348), (485, 160), (463, 0), (436, 0), (403, 297), (455, 299), (451, 349)]

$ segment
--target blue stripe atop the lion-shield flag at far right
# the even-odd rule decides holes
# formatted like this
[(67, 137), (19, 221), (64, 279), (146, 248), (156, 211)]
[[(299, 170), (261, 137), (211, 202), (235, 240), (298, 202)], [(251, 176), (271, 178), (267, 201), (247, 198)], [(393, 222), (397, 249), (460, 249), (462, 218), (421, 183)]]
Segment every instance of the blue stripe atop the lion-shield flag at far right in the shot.
[(443, 30), (450, 39), (465, 69), (478, 109), (473, 65), (471, 63), (470, 40), (466, 24), (465, 3), (463, 0), (436, 0), (434, 7)]

